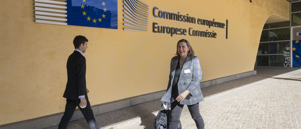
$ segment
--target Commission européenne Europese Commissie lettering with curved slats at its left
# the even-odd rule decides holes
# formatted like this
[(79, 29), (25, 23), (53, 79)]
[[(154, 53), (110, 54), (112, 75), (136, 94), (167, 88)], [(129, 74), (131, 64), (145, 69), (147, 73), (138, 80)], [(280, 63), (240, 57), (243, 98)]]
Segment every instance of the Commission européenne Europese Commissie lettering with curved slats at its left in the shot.
[[(125, 27), (124, 30), (131, 31), (141, 31), (148, 32), (148, 17), (149, 17), (149, 6), (139, 0), (123, 0), (123, 16)], [(162, 18), (167, 20), (174, 20), (179, 22), (185, 22), (189, 24), (198, 24), (200, 26), (207, 26), (209, 29), (212, 28), (221, 28), (226, 30), (226, 39), (228, 39), (228, 20), (226, 23), (222, 23), (219, 21), (206, 20), (196, 17), (191, 17), (189, 14), (181, 14), (180, 12), (172, 13), (161, 11), (159, 8), (153, 8), (153, 16), (156, 18)], [(196, 30), (192, 27), (186, 28), (178, 28), (178, 27), (168, 27), (168, 26), (160, 26), (158, 23), (153, 22), (152, 24), (153, 33), (166, 33), (170, 36), (173, 35), (189, 35), (189, 36), (197, 36), (197, 37), (207, 37), (207, 38), (217, 38), (217, 33), (214, 30)]]

